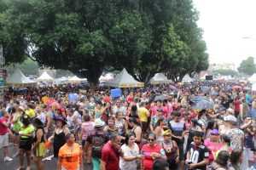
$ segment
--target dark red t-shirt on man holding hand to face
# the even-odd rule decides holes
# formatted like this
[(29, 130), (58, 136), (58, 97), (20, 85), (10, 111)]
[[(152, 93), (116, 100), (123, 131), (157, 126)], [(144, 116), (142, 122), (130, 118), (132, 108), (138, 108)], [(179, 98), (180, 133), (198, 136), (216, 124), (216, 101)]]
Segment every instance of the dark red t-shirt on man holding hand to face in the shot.
[(102, 148), (102, 161), (106, 162), (106, 170), (119, 170), (119, 154), (113, 150), (109, 141)]

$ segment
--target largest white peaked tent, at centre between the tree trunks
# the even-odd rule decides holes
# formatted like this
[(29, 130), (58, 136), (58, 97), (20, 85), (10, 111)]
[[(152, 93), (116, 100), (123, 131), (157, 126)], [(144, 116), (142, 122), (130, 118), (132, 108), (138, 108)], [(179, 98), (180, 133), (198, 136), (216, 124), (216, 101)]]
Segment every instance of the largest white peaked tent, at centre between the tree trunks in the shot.
[(105, 86), (111, 86), (114, 88), (135, 88), (135, 87), (144, 87), (143, 82), (137, 82), (131, 77), (130, 74), (123, 69), (120, 74), (115, 77), (113, 80), (107, 81), (104, 83)]

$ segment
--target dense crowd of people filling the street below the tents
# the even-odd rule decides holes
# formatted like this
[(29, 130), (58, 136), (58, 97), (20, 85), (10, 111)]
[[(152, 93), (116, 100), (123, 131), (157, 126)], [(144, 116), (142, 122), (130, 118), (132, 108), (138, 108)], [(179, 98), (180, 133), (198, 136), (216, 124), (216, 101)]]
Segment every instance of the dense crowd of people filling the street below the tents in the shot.
[[(256, 169), (256, 98), (241, 82), (190, 82), (110, 89), (80, 85), (5, 92), (3, 160), (9, 137), (18, 170), (51, 148), (57, 170)], [(78, 94), (68, 99), (69, 94)], [(209, 105), (198, 105), (201, 101)], [(51, 147), (51, 145), (53, 147)], [(14, 157), (15, 157), (14, 156)]]

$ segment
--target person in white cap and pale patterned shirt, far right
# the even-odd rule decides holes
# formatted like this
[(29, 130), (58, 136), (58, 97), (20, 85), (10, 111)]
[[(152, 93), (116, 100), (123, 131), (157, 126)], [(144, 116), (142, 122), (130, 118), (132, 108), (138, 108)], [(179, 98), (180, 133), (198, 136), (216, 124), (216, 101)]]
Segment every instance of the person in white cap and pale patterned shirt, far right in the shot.
[(228, 130), (225, 132), (230, 137), (231, 149), (242, 150), (244, 144), (244, 133), (237, 127), (237, 119), (235, 116), (229, 115), (224, 117)]

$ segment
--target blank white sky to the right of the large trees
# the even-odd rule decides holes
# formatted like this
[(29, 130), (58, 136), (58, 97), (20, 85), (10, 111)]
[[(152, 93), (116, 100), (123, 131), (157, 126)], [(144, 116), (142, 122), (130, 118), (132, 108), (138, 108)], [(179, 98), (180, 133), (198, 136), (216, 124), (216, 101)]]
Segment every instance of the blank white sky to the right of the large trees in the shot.
[[(210, 63), (256, 62), (256, 0), (193, 0)], [(251, 37), (248, 39), (242, 37)]]

